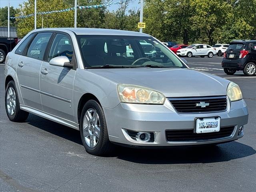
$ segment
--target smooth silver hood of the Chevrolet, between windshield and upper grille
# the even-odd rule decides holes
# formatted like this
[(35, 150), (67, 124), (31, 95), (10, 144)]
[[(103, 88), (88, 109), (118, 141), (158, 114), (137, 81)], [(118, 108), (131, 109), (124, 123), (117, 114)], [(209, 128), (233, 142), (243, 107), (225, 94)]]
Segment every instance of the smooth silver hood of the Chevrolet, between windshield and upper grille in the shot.
[(226, 95), (230, 81), (218, 76), (180, 68), (88, 69), (118, 84), (133, 84), (162, 92), (166, 97)]

